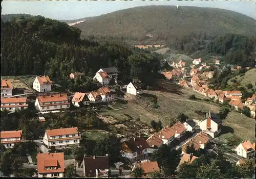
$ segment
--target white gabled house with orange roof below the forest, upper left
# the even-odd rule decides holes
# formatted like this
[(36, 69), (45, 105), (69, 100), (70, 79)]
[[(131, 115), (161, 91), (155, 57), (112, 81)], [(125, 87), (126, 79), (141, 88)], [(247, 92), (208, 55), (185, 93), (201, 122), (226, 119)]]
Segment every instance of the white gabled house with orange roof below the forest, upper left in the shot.
[(34, 82), (33, 82), (33, 89), (35, 89), (38, 92), (48, 92), (52, 90), (52, 82), (49, 78), (49, 76), (36, 76)]

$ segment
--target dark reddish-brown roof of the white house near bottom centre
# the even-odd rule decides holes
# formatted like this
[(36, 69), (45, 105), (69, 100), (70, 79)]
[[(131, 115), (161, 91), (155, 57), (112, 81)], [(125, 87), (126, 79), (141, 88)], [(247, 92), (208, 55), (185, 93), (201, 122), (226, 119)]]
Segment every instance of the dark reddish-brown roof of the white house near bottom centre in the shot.
[(123, 144), (126, 144), (132, 153), (146, 149), (146, 148), (150, 148), (150, 145), (148, 145), (146, 140), (144, 138), (139, 138), (139, 137), (129, 139), (123, 142)]

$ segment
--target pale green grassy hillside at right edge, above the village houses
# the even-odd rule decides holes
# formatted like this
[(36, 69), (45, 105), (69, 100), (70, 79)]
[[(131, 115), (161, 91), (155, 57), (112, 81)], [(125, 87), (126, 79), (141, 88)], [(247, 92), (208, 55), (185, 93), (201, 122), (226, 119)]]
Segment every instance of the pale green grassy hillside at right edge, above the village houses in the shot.
[(253, 85), (253, 88), (255, 88), (255, 80), (256, 80), (255, 68), (250, 69), (243, 76), (237, 75), (234, 78), (230, 79), (228, 81), (228, 85), (233, 84), (233, 82), (231, 82), (231, 80), (237, 80), (237, 82), (240, 84), (240, 86), (245, 87), (245, 88), (248, 83), (251, 83)]

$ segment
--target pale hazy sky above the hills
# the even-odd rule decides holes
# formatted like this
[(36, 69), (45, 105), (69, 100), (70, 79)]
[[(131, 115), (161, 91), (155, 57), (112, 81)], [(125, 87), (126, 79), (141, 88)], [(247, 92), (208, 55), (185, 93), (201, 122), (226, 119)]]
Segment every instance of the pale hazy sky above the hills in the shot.
[(58, 20), (98, 16), (137, 6), (179, 5), (214, 7), (236, 11), (256, 18), (255, 1), (2, 1), (2, 14), (25, 13)]

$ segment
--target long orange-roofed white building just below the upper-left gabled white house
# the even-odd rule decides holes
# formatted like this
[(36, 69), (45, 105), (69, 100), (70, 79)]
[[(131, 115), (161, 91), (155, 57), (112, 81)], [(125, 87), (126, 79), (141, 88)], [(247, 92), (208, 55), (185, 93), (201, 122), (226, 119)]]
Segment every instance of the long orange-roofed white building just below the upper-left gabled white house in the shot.
[(68, 96), (66, 94), (53, 94), (37, 96), (35, 108), (38, 111), (51, 111), (69, 109)]

